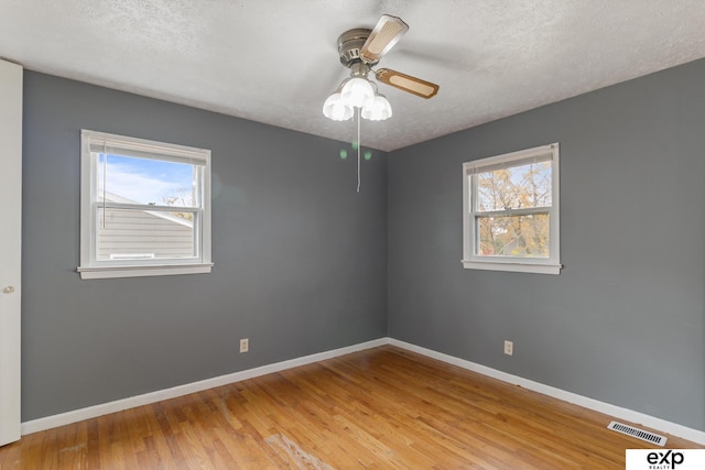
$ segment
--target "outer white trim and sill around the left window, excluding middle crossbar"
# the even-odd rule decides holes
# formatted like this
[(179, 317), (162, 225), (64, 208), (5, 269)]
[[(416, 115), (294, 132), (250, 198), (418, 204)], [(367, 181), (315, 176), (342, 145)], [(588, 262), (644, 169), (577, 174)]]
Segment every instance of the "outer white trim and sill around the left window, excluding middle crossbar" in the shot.
[[(210, 252), (210, 151), (163, 142), (149, 141), (105, 132), (82, 130), (80, 150), (80, 265), (77, 271), (82, 280), (109, 277), (141, 277), (177, 274), (210, 273), (213, 267)], [(162, 155), (175, 155), (178, 160), (193, 159), (205, 162), (203, 167), (203, 194), (199, 230), (196, 233), (198, 255), (188, 259), (164, 260), (96, 260), (96, 220), (97, 200), (96, 160), (91, 156), (91, 143), (96, 141), (116, 142), (118, 145), (149, 151)], [(108, 144), (109, 145), (109, 144)], [(160, 208), (159, 206), (155, 209)]]

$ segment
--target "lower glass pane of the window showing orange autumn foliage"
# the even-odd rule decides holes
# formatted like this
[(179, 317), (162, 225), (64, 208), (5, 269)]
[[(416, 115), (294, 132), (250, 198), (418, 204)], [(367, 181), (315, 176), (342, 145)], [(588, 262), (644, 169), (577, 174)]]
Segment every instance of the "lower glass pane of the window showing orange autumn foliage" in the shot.
[(549, 258), (549, 215), (478, 217), (479, 256)]

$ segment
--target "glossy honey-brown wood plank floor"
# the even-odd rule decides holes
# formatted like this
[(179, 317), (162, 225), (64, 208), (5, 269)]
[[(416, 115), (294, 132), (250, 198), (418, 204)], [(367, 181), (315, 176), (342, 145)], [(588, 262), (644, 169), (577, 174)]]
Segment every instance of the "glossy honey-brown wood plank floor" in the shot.
[(0, 469), (623, 469), (653, 446), (611, 419), (386, 346), (26, 435)]

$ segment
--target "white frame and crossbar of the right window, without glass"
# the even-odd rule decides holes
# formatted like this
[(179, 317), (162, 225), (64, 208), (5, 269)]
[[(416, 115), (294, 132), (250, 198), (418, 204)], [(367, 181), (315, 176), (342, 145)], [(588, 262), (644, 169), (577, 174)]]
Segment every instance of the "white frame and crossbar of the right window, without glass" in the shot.
[[(509, 166), (518, 166), (533, 159), (551, 161), (551, 207), (535, 209), (509, 209), (497, 211), (498, 216), (516, 216), (529, 214), (549, 215), (549, 258), (529, 256), (487, 256), (478, 255), (477, 218), (488, 212), (476, 211), (477, 174)], [(471, 270), (510, 271), (522, 273), (560, 274), (561, 269), (561, 221), (560, 221), (560, 170), (558, 144), (552, 143), (534, 149), (522, 150), (487, 159), (465, 162), (463, 164), (463, 266)]]

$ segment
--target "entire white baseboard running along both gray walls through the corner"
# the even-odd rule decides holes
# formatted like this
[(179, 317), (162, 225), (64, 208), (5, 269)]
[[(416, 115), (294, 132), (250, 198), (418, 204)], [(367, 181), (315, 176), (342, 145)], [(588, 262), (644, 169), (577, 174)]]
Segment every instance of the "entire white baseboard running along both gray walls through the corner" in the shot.
[(380, 338), (372, 341), (361, 342), (359, 345), (349, 346), (346, 348), (334, 349), (332, 351), (319, 352), (316, 354), (305, 356), (303, 358), (291, 359), (288, 361), (276, 362), (274, 364), (262, 365), (260, 368), (249, 369), (241, 372), (235, 372), (231, 374), (220, 375), (213, 379), (206, 379), (198, 382), (193, 382), (185, 385), (178, 385), (166, 390), (160, 390), (156, 392), (145, 393), (143, 395), (131, 396), (128, 398), (117, 400), (115, 402), (102, 403), (87, 408), (75, 409), (72, 412), (61, 413), (58, 415), (46, 416), (39, 419), (22, 423), (22, 435), (36, 433), (40, 430), (51, 429), (58, 426), (76, 423), (84, 419), (95, 418), (97, 416), (107, 415), (109, 413), (121, 412), (123, 409), (133, 408), (135, 406), (149, 405), (151, 403), (160, 402), (162, 400), (175, 398), (177, 396), (187, 395), (189, 393), (200, 392), (207, 389), (216, 386), (227, 385), (230, 383), (239, 382), (247, 379), (265, 375), (273, 372), (280, 372), (286, 369), (297, 368), (300, 365), (310, 364), (312, 362), (324, 361), (326, 359), (337, 358), (339, 356), (348, 354), (350, 352), (362, 351), (365, 349), (377, 348), (379, 346), (392, 345), (402, 349), (406, 349), (412, 352), (416, 352), (422, 356), (426, 356), (432, 359), (457, 365), (459, 368), (480, 373), (482, 375), (490, 376), (492, 379), (500, 380), (513, 385), (520, 385), (527, 390), (542, 393), (547, 396), (552, 396), (557, 400), (563, 400), (568, 403), (573, 403), (583, 406), (588, 409), (593, 409), (606, 415), (610, 415), (617, 418), (621, 418), (634, 424), (641, 424), (655, 430), (660, 430), (673, 436), (681, 437), (683, 439), (705, 445), (705, 433), (697, 429), (692, 429), (675, 423), (668, 422), (665, 419), (657, 418), (646, 415), (643, 413), (634, 412), (620, 406), (610, 405), (609, 403), (599, 402), (597, 400), (588, 398), (586, 396), (577, 395), (572, 392), (566, 392), (561, 389), (556, 389), (550, 385), (544, 385), (539, 382), (534, 382), (528, 379), (523, 379), (518, 375), (512, 375), (507, 372), (498, 371), (496, 369), (480, 365), (475, 362), (459, 359), (453, 356), (444, 354), (431, 349), (422, 348), (420, 346), (411, 345), (409, 342), (400, 341), (393, 338)]

